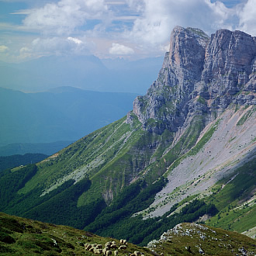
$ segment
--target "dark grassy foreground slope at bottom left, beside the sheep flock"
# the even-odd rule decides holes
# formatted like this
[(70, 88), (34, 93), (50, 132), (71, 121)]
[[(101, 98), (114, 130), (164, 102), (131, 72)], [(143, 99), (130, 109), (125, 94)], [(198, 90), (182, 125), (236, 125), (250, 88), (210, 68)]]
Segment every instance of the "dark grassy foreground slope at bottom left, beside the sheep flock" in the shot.
[[(106, 244), (115, 239), (99, 237), (72, 227), (41, 223), (0, 213), (0, 254), (1, 255), (94, 255), (85, 251), (84, 244)], [(116, 244), (120, 244), (115, 240)], [(119, 255), (140, 251), (150, 255), (150, 250), (128, 244)]]

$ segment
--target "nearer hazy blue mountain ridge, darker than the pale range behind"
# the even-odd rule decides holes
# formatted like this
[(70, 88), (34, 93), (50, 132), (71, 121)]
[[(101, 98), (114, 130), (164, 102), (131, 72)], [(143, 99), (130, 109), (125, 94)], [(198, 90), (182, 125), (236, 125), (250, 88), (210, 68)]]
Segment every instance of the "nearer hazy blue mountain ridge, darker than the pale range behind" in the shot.
[(0, 88), (0, 145), (78, 140), (125, 115), (134, 97), (71, 87), (38, 93)]

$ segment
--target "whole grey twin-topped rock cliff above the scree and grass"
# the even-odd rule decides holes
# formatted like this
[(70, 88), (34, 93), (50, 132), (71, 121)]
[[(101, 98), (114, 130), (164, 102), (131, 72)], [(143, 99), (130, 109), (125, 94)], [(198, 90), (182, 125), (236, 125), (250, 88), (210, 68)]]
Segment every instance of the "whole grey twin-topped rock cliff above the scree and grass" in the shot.
[(176, 26), (157, 80), (134, 100), (126, 122), (135, 114), (144, 130), (161, 134), (202, 115), (206, 126), (231, 103), (255, 105), (255, 77), (256, 37), (227, 29), (209, 37)]

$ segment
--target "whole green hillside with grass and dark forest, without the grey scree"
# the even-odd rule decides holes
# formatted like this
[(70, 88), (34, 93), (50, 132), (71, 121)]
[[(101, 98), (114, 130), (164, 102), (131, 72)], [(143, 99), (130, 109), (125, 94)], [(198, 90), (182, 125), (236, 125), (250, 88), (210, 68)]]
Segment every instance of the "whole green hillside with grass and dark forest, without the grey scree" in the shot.
[[(143, 246), (178, 223), (193, 222), (202, 216), (207, 216), (206, 223), (212, 227), (238, 232), (251, 229), (255, 225), (254, 157), (214, 184), (204, 196), (186, 195), (182, 188), (175, 189), (174, 196), (185, 195), (184, 199), (162, 216), (144, 218), (158, 207), (151, 205), (168, 184), (163, 175), (202, 150), (216, 132), (218, 121), (209, 126), (195, 147), (196, 140), (188, 134), (198, 137), (199, 132), (195, 123), (192, 125), (164, 154), (164, 148), (173, 141), (171, 133), (152, 135), (142, 130), (136, 120), (130, 126), (125, 118), (120, 119), (39, 164), (4, 171), (0, 178), (0, 209), (101, 236), (123, 237)], [(185, 140), (188, 137), (192, 140)], [(182, 154), (189, 147), (192, 150)], [(157, 161), (152, 162), (154, 157)], [(206, 176), (199, 177), (199, 181), (203, 178)], [(193, 184), (194, 188), (198, 186), (195, 179)], [(168, 205), (168, 201), (164, 204)]]

